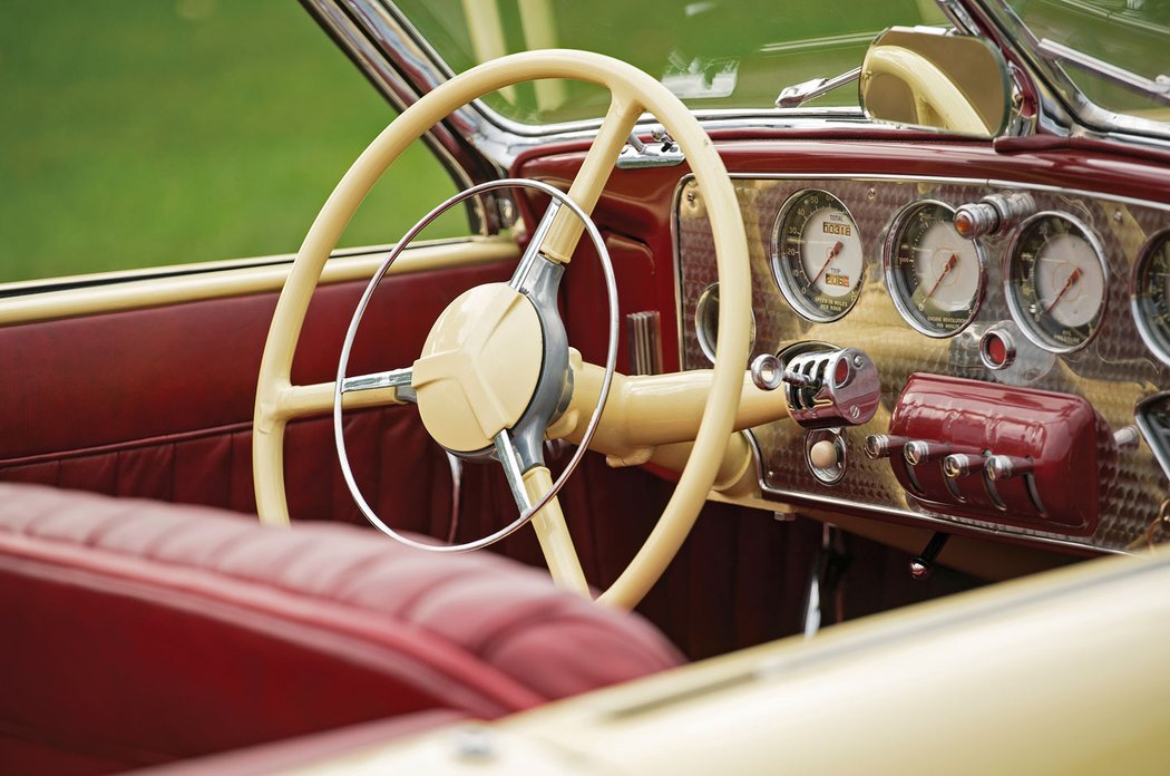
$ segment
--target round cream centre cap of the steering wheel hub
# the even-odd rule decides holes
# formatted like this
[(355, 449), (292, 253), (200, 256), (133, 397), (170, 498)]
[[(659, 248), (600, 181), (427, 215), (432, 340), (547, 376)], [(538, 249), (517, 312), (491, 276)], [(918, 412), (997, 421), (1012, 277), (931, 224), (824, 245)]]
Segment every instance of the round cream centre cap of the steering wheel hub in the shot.
[(539, 316), (526, 296), (505, 283), (460, 294), (413, 366), (427, 431), (455, 453), (490, 448), (532, 400), (543, 353)]

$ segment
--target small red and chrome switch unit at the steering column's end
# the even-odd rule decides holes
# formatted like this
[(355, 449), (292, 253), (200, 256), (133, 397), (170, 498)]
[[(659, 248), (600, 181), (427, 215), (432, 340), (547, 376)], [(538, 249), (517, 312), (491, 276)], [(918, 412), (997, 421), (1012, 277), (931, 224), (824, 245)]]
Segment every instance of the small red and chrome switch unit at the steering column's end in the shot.
[(792, 419), (805, 428), (835, 428), (868, 423), (878, 412), (881, 380), (866, 353), (831, 345), (764, 353), (751, 363), (757, 387), (784, 386)]

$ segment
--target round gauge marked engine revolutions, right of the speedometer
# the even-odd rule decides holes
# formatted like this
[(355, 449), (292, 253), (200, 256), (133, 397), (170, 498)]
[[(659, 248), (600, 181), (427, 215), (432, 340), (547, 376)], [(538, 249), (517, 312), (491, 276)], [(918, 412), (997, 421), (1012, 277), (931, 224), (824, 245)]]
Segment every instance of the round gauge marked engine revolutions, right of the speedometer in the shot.
[(886, 239), (886, 287), (902, 317), (928, 337), (958, 334), (983, 300), (983, 249), (961, 238), (954, 221), (947, 205), (916, 202)]

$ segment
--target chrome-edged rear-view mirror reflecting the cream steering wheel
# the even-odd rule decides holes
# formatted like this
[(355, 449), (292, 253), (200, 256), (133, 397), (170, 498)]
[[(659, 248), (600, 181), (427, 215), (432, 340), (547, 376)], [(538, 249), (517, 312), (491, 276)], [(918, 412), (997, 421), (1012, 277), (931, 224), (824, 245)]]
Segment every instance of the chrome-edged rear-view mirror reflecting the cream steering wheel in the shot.
[(1010, 118), (1007, 63), (982, 37), (890, 27), (861, 64), (858, 98), (874, 121), (996, 137)]

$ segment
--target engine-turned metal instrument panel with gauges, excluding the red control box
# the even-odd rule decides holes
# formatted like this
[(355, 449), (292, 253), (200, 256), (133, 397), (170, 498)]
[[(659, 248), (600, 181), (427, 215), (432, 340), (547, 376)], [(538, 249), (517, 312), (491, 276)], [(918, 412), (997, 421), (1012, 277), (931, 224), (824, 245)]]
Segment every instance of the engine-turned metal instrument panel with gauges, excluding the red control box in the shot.
[[(840, 430), (847, 466), (832, 482), (806, 460), (806, 432), (796, 424), (749, 431), (765, 494), (1099, 550), (1123, 551), (1148, 536), (1168, 495), (1166, 475), (1137, 431), (1135, 406), (1170, 389), (1170, 207), (985, 180), (732, 176), (732, 183), (752, 275), (748, 360), (827, 342), (865, 351), (881, 375), (875, 417)], [(680, 360), (698, 369), (710, 364), (714, 332), (703, 322), (714, 313), (706, 305), (696, 317), (696, 309), (713, 295), (716, 268), (701, 193), (690, 179), (677, 193)], [(1088, 437), (1078, 439), (1102, 440), (1089, 530), (989, 516), (965, 508), (962, 495), (949, 508), (915, 490), (913, 471), (908, 487), (901, 461), (867, 456), (866, 440), (888, 434), (897, 420), (911, 376), (958, 378), (959, 392), (968, 384), (1016, 390), (1004, 396), (1023, 401), (1012, 410), (1023, 418), (1028, 392), (1089, 407), (1096, 428), (1090, 421)], [(1045, 426), (1028, 433), (1044, 435)], [(1074, 475), (1071, 462), (1068, 476), (1083, 478), (1083, 460), (1075, 451), (1068, 459), (1082, 466)], [(1031, 463), (1019, 460), (1021, 471)], [(1059, 482), (1061, 472), (1054, 479), (1048, 463), (1045, 476)], [(1004, 509), (998, 497), (991, 502)], [(1033, 502), (1042, 513), (1039, 497)]]

